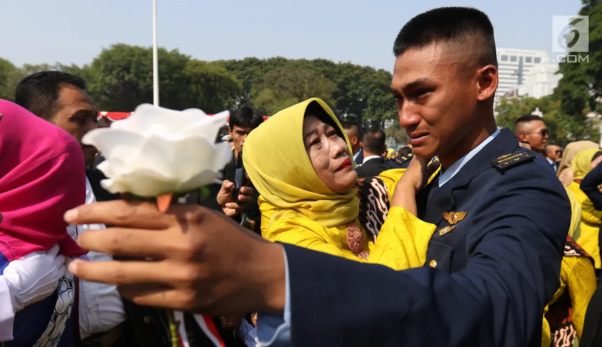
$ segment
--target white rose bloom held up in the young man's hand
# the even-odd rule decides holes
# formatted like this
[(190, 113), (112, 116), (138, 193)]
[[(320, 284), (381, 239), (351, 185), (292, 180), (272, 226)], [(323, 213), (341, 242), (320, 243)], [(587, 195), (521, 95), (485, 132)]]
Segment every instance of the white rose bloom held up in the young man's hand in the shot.
[(88, 132), (82, 142), (104, 155), (98, 169), (108, 177), (101, 185), (111, 193), (157, 197), (189, 192), (213, 183), (231, 160), (230, 144), (216, 144), (228, 115), (144, 104), (111, 127)]

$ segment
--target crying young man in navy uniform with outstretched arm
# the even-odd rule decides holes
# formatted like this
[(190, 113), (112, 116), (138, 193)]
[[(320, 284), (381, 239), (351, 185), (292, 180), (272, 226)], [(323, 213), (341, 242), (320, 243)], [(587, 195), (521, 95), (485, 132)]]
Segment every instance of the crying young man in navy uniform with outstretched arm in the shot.
[(496, 129), (491, 22), (474, 8), (436, 8), (402, 28), (394, 52), (400, 124), (416, 156), (442, 165), (419, 194), (421, 216), (437, 226), (427, 266), (393, 271), (265, 242), (202, 207), (161, 214), (120, 202), (67, 214), (127, 227), (84, 233), (80, 244), (162, 260), (70, 269), (126, 284), (123, 295), (140, 304), (270, 312), (258, 319), (265, 346), (540, 346), (571, 206), (544, 159)]

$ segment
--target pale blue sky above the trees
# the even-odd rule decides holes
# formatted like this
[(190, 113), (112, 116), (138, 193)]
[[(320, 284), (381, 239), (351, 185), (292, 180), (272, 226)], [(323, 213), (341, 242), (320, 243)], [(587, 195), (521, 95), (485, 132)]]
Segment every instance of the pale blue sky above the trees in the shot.
[[(498, 48), (552, 56), (552, 16), (577, 14), (581, 1), (157, 0), (158, 43), (199, 60), (325, 58), (392, 71), (402, 26), (450, 5), (485, 11)], [(114, 43), (152, 45), (152, 0), (0, 0), (0, 14), (0, 57), (17, 66), (82, 65)]]

